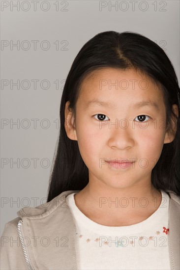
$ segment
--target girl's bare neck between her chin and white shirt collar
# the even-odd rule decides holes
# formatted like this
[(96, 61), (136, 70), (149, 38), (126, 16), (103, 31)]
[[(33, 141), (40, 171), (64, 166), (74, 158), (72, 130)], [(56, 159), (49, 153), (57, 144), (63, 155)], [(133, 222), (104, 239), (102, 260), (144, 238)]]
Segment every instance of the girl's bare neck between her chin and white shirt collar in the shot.
[(161, 203), (161, 192), (151, 181), (145, 184), (117, 189), (102, 182), (97, 186), (95, 181), (90, 181), (75, 194), (75, 203), (84, 215), (97, 223), (107, 226), (135, 224), (151, 216)]

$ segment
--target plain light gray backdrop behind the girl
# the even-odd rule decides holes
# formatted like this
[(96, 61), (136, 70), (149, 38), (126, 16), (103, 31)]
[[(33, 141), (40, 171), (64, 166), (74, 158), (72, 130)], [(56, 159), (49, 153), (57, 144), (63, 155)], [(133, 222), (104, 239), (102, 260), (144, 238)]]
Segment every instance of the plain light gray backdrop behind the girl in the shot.
[[(102, 31), (138, 32), (165, 50), (180, 80), (180, 1), (39, 0), (36, 10), (32, 1), (18, 9), (18, 1), (0, 4), (1, 234), (21, 208), (46, 201), (64, 80), (82, 46)], [(39, 119), (36, 128), (31, 119)]]

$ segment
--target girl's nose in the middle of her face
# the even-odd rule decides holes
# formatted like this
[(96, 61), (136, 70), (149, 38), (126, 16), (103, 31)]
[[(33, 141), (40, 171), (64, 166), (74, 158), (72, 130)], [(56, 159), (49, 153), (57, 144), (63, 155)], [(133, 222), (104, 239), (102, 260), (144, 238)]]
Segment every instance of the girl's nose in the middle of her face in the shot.
[(130, 124), (109, 125), (110, 137), (108, 144), (112, 148), (120, 150), (131, 148), (134, 145), (133, 130)]

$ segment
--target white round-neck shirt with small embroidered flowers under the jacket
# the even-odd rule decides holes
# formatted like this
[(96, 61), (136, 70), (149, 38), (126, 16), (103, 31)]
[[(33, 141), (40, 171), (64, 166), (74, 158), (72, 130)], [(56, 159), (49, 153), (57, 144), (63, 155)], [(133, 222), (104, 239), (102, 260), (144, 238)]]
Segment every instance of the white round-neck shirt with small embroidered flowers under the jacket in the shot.
[[(105, 226), (85, 216), (67, 196), (76, 224), (78, 270), (170, 270), (168, 250), (169, 196), (161, 190), (159, 208), (146, 220), (129, 226)], [(146, 202), (142, 201), (142, 205)]]

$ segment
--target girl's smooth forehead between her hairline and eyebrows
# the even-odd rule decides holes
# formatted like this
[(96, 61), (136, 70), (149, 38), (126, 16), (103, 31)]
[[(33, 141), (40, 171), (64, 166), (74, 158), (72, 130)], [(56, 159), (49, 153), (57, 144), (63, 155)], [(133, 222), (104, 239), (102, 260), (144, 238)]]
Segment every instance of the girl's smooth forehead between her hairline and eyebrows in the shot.
[(152, 78), (135, 69), (99, 68), (90, 72), (81, 83), (81, 100), (104, 97), (122, 100), (125, 97), (162, 99), (163, 91)]

